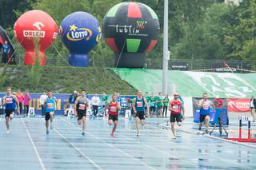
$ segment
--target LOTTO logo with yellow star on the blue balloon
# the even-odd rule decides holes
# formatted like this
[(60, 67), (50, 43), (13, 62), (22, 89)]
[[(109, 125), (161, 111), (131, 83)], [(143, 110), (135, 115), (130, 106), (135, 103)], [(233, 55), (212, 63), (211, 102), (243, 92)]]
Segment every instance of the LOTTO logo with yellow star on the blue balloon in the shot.
[(66, 34), (66, 38), (72, 42), (77, 42), (82, 39), (89, 41), (92, 34), (93, 33), (90, 29), (78, 28), (73, 25), (70, 26), (70, 31), (68, 32), (68, 34)]

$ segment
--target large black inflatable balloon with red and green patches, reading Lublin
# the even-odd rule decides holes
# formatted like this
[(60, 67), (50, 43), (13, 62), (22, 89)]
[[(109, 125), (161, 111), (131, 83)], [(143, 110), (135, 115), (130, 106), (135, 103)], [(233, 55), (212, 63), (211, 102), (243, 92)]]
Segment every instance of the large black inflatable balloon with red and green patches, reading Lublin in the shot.
[(121, 2), (106, 13), (102, 32), (106, 44), (116, 52), (116, 66), (142, 68), (145, 53), (157, 44), (160, 26), (149, 6)]

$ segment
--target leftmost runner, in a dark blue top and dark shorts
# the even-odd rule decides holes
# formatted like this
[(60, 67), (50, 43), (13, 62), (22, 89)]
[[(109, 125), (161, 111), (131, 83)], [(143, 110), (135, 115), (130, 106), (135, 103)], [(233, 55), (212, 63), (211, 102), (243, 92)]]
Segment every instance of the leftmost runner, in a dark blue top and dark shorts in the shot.
[(17, 113), (19, 114), (18, 99), (11, 93), (11, 88), (7, 88), (6, 96), (2, 97), (2, 105), (6, 106), (6, 133), (10, 132), (10, 121), (14, 118), (14, 111), (17, 106)]

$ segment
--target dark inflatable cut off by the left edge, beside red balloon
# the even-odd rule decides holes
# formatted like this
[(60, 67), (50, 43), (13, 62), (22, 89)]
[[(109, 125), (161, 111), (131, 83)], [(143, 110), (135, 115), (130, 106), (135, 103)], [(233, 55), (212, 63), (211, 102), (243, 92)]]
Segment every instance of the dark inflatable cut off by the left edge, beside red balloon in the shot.
[(6, 41), (8, 42), (8, 45), (10, 45), (10, 53), (9, 53), (9, 56), (8, 56), (8, 61), (9, 61), (8, 63), (9, 64), (16, 64), (16, 60), (15, 60), (16, 59), (16, 54), (14, 53), (14, 51), (15, 51), (14, 45), (10, 42), (10, 38), (6, 34), (6, 30), (4, 30), (2, 28), (2, 26), (0, 26), (0, 50), (2, 49), (2, 45)]

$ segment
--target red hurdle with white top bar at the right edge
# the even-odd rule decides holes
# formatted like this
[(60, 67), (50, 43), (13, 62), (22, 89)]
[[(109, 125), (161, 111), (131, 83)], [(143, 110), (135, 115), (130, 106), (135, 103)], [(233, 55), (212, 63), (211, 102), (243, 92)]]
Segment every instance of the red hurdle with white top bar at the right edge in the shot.
[[(250, 137), (250, 117), (238, 117), (239, 120), (239, 137), (226, 137), (224, 139), (226, 140), (233, 140), (238, 142), (252, 142), (255, 143), (256, 139)], [(248, 121), (248, 136), (247, 138), (242, 138), (242, 121)]]

